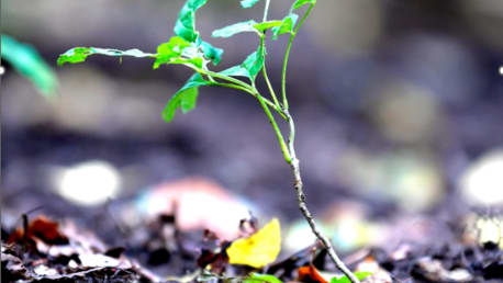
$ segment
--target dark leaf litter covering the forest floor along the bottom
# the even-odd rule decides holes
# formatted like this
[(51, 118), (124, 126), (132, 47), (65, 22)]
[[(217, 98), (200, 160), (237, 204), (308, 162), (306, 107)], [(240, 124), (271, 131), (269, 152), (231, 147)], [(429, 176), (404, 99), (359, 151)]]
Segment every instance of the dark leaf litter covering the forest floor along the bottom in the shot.
[[(183, 228), (179, 215), (183, 212), (175, 202), (135, 226), (115, 223), (108, 233), (114, 230), (111, 237), (120, 239), (114, 244), (120, 246), (107, 245), (98, 230), (78, 219), (24, 214), (18, 227), (2, 224), (2, 278), (7, 282), (347, 282), (318, 242), (278, 256), (278, 219), (259, 223), (249, 215), (236, 223), (237, 233), (228, 239), (203, 226)], [(343, 259), (364, 282), (501, 282), (500, 244), (481, 242), (459, 227), (451, 228), (459, 237), (450, 241), (406, 240), (392, 248), (353, 251)]]

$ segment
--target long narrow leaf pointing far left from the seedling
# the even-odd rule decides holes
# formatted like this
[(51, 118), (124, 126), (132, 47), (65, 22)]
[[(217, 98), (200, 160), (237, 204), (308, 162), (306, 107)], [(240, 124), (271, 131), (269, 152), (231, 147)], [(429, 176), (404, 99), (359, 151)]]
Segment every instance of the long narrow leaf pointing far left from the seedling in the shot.
[(66, 53), (59, 55), (57, 58), (57, 65), (62, 66), (65, 63), (82, 63), (90, 55), (101, 54), (105, 56), (133, 56), (133, 57), (155, 57), (155, 54), (144, 53), (138, 49), (128, 49), (128, 50), (118, 50), (118, 49), (107, 49), (107, 48), (97, 48), (97, 47), (74, 47)]

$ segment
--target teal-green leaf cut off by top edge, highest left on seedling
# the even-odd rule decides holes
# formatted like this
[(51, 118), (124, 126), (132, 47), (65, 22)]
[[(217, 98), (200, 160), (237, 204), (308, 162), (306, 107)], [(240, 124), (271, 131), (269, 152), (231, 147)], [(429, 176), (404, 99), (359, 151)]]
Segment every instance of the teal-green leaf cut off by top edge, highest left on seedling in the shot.
[(175, 34), (188, 42), (195, 42), (199, 33), (195, 31), (195, 11), (203, 7), (208, 0), (187, 0), (178, 14), (175, 23)]

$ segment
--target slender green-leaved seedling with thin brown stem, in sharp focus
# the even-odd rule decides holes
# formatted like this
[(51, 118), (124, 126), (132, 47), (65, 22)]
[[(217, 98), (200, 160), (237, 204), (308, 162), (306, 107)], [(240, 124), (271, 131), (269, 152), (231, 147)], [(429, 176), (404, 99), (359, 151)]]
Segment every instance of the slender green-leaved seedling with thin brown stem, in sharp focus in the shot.
[[(133, 56), (153, 58), (154, 69), (163, 65), (182, 65), (194, 70), (194, 73), (186, 82), (186, 84), (175, 93), (163, 111), (163, 118), (170, 122), (178, 109), (186, 113), (195, 106), (198, 91), (203, 86), (216, 86), (241, 90), (254, 97), (264, 112), (267, 115), (276, 137), (278, 139), (284, 161), (290, 166), (293, 173), (293, 188), (297, 192), (298, 205), (302, 215), (308, 220), (312, 231), (328, 250), (328, 254), (335, 265), (351, 281), (359, 282), (349, 269), (343, 263), (335, 252), (331, 241), (316, 226), (308, 206), (305, 204), (305, 195), (302, 189), (302, 178), (299, 167), (299, 159), (295, 154), (295, 124), (289, 111), (289, 102), (287, 95), (287, 67), (290, 57), (290, 50), (295, 36), (312, 12), (316, 0), (295, 0), (287, 15), (281, 20), (268, 20), (268, 11), (270, 0), (264, 0), (264, 16), (261, 21), (248, 20), (225, 26), (212, 33), (213, 37), (231, 37), (238, 33), (250, 32), (255, 33), (259, 38), (257, 49), (248, 55), (246, 59), (237, 66), (225, 69), (223, 71), (213, 71), (211, 65), (216, 66), (222, 58), (223, 49), (213, 47), (210, 43), (204, 42), (199, 32), (195, 30), (195, 12), (203, 7), (208, 0), (187, 0), (181, 9), (178, 20), (175, 24), (175, 36), (168, 42), (157, 46), (157, 53), (144, 53), (138, 49), (118, 50), (96, 47), (75, 47), (62, 54), (57, 60), (58, 65), (65, 63), (81, 63), (90, 55), (101, 54), (107, 56)], [(243, 8), (252, 8), (260, 2), (260, 0), (242, 0)], [(308, 8), (305, 9), (304, 5)], [(297, 13), (304, 10), (302, 16)], [(300, 20), (299, 20), (300, 19)], [(289, 36), (288, 45), (284, 52), (284, 59), (281, 72), (281, 93), (277, 94), (269, 80), (266, 69), (266, 36), (271, 35), (272, 39), (286, 34)], [(264, 77), (267, 84), (269, 95), (266, 97), (256, 88), (257, 76)], [(272, 114), (278, 115), (275, 117)], [(277, 118), (279, 121), (277, 121)], [(289, 128), (288, 136), (284, 135), (278, 123), (286, 123)]]

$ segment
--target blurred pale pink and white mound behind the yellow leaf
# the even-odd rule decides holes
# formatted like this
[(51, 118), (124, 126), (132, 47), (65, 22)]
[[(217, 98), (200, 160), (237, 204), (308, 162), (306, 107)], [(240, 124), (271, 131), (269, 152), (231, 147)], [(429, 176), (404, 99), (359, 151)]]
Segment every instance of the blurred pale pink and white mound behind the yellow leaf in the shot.
[(175, 214), (177, 226), (182, 230), (206, 228), (227, 240), (238, 236), (239, 220), (249, 218), (253, 208), (205, 178), (161, 183), (142, 193), (136, 205), (148, 217)]

